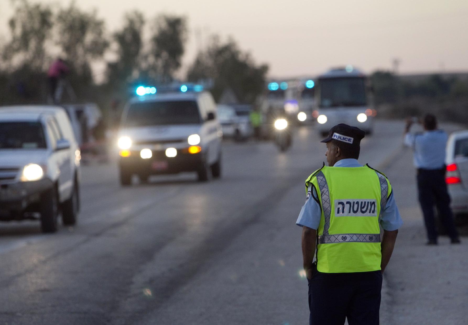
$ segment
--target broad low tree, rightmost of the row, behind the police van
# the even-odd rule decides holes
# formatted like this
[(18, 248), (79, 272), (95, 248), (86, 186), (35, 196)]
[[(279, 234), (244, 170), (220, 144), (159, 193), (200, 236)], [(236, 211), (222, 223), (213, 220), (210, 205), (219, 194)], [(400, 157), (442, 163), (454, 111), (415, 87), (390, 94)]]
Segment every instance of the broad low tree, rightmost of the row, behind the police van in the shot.
[(254, 103), (263, 92), (268, 65), (256, 65), (249, 53), (242, 52), (234, 40), (221, 43), (212, 37), (205, 51), (198, 53), (191, 65), (187, 78), (197, 82), (212, 79), (212, 94), (219, 100), (225, 89), (232, 89), (244, 103)]

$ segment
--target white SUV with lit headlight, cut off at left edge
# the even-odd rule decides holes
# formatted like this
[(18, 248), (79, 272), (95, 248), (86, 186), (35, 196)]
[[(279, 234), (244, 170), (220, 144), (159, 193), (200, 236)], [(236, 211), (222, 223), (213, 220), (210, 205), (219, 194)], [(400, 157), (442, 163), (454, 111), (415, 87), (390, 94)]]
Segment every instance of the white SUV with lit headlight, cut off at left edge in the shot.
[(0, 108), (0, 221), (37, 219), (42, 231), (76, 223), (80, 150), (61, 107)]

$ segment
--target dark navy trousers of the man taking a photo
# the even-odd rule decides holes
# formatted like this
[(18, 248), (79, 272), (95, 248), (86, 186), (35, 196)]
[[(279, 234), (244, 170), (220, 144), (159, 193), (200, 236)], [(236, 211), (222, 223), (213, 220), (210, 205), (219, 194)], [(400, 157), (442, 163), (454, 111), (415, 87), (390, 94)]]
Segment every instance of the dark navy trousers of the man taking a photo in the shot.
[(445, 182), (445, 169), (418, 169), (417, 189), (419, 193), (419, 203), (423, 210), (427, 238), (437, 242), (438, 234), (434, 217), (434, 205), (439, 211), (440, 221), (445, 226), (450, 238), (458, 238), (457, 229), (453, 222), (452, 209), (450, 208), (450, 195), (448, 195)]

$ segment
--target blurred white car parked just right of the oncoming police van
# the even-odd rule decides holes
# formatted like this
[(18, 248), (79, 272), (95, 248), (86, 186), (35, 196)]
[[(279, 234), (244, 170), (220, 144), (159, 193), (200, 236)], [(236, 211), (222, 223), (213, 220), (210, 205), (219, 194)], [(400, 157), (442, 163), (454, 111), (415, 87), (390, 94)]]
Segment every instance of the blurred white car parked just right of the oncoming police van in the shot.
[(237, 116), (229, 105), (218, 105), (218, 118), (223, 130), (223, 137), (234, 138), (236, 141), (247, 140), (252, 133), (249, 121)]

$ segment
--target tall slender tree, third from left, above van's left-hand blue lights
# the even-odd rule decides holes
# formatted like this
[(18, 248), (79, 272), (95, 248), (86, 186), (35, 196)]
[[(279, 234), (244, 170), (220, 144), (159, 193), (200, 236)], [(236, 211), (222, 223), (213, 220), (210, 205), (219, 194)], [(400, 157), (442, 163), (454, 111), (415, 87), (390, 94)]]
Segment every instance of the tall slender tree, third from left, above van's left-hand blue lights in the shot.
[(124, 85), (139, 75), (145, 19), (139, 11), (125, 14), (124, 19), (124, 27), (113, 35), (117, 61), (108, 63), (108, 83), (114, 87), (120, 87), (118, 84)]

